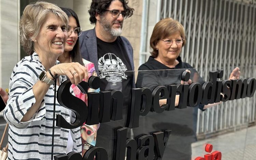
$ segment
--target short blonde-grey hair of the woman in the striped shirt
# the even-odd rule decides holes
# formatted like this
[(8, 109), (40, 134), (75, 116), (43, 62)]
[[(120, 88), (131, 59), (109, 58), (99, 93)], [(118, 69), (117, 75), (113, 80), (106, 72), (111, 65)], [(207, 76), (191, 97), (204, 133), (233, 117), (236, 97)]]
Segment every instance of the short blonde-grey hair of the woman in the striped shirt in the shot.
[(20, 44), (25, 52), (29, 55), (33, 54), (34, 42), (32, 39), (38, 36), (41, 25), (45, 18), (50, 14), (58, 16), (68, 26), (68, 16), (56, 4), (38, 1), (30, 3), (26, 6), (22, 17), (19, 21)]

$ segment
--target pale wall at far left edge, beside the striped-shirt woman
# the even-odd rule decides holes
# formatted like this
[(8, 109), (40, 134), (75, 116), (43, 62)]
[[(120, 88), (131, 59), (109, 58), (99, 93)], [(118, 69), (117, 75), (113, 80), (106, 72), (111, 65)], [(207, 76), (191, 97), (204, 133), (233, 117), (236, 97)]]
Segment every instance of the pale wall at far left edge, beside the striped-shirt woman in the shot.
[(19, 0), (0, 0), (0, 87), (8, 88), (10, 76), (19, 60)]

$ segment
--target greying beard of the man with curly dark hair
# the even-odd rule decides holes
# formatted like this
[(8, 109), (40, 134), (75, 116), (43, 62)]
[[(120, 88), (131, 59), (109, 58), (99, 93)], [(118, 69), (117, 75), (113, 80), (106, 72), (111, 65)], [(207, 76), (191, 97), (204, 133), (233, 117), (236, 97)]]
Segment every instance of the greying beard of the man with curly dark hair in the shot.
[(122, 34), (122, 22), (119, 22), (121, 24), (120, 28), (113, 28), (113, 26), (110, 25), (109, 21), (104, 16), (101, 16), (101, 20), (99, 20), (99, 23), (103, 26), (103, 29), (109, 32), (113, 37), (117, 37)]

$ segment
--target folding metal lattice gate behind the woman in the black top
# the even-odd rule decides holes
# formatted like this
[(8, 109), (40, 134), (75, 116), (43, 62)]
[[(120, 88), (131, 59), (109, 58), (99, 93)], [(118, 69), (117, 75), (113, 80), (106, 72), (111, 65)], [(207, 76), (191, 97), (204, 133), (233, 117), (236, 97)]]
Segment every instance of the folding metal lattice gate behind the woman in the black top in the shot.
[[(228, 79), (240, 67), (241, 78), (256, 77), (256, 6), (234, 0), (158, 0), (157, 19), (172, 17), (184, 26), (181, 57), (209, 79), (224, 69)], [(256, 95), (198, 112), (197, 135), (236, 130), (255, 123)]]

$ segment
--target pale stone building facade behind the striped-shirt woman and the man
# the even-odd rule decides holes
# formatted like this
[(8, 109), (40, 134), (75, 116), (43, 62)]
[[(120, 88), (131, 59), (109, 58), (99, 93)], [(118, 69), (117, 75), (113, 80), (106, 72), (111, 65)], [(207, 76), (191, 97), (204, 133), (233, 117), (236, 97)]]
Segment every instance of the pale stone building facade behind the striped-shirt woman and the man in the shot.
[[(19, 19), (25, 6), (37, 0), (0, 0), (0, 87), (8, 88), (11, 72), (15, 64), (25, 56), (20, 50)], [(91, 0), (45, 0), (62, 7), (73, 9), (79, 19), (81, 28), (88, 30), (94, 28), (90, 24), (88, 10)], [(125, 19), (123, 36), (132, 44), (135, 70), (139, 67), (140, 35), (143, 1), (130, 0), (128, 5), (135, 9), (130, 18)], [(21, 11), (21, 12), (20, 12)]]

